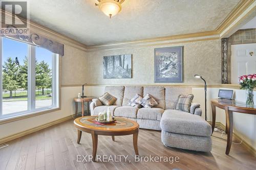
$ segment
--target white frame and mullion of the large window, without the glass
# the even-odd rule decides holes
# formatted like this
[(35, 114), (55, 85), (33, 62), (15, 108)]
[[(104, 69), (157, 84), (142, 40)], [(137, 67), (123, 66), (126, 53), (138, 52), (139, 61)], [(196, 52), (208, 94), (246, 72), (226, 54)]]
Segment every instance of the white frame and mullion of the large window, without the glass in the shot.
[[(11, 39), (11, 38), (9, 38)], [(17, 41), (15, 39), (11, 39)], [(19, 41), (17, 41), (19, 42)], [(22, 42), (25, 43), (25, 42)], [(28, 45), (28, 110), (14, 113), (3, 114), (3, 37), (0, 37), (0, 125), (12, 122), (18, 119), (49, 113), (60, 110), (60, 55), (52, 53), (52, 105), (36, 109), (35, 107), (35, 61), (36, 46)]]

